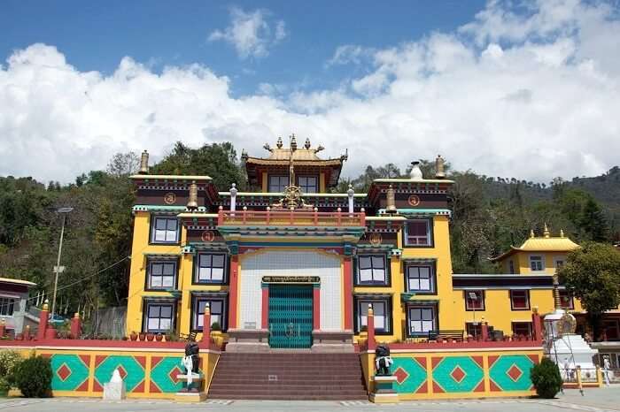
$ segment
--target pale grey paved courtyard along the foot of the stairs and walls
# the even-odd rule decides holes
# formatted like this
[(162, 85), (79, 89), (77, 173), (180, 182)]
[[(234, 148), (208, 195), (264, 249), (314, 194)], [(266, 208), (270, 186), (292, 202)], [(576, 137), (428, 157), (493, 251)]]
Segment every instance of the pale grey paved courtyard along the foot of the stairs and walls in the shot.
[(589, 412), (620, 412), (620, 385), (590, 389), (584, 396), (576, 390), (566, 391), (554, 400), (505, 399), (472, 401), (412, 401), (399, 405), (375, 405), (365, 401), (206, 401), (201, 404), (175, 403), (172, 401), (122, 401), (110, 402), (94, 399), (55, 398), (44, 400), (0, 399), (0, 410), (8, 412), (57, 412), (79, 409), (81, 411), (157, 411), (187, 412), (188, 410), (237, 412), (314, 412), (314, 411), (509, 411), (553, 412), (581, 410)]

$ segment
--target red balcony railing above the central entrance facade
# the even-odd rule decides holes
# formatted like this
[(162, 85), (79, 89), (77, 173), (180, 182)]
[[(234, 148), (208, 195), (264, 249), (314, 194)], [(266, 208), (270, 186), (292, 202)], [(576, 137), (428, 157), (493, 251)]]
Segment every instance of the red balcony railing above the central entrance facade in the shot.
[(218, 225), (364, 226), (366, 213), (317, 210), (220, 210)]

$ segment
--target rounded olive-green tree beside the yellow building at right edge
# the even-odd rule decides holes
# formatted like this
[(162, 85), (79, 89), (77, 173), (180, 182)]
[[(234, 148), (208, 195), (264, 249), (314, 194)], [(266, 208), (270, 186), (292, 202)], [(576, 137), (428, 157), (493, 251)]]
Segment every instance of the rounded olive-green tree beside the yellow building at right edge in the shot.
[(598, 339), (602, 314), (620, 304), (620, 253), (605, 243), (585, 242), (570, 252), (558, 277), (587, 310)]

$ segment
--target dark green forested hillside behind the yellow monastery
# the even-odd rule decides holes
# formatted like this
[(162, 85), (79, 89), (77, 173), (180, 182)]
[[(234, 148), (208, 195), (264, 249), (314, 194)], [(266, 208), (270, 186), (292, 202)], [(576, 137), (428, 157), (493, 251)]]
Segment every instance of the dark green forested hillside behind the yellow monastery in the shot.
[[(56, 210), (70, 206), (74, 211), (67, 219), (59, 309), (68, 314), (84, 311), (89, 318), (97, 307), (125, 304), (134, 202), (128, 176), (137, 165), (136, 154), (119, 154), (105, 171), (82, 174), (66, 185), (0, 177), (0, 277), (32, 280), (38, 284), (35, 294), (50, 293), (62, 221)], [(432, 169), (432, 163), (422, 162), (425, 176), (433, 176)], [(230, 143), (199, 149), (177, 143), (151, 172), (207, 174), (221, 190), (232, 182), (246, 188)], [(620, 238), (618, 167), (599, 177), (554, 179), (549, 184), (448, 172), (456, 181), (450, 194), (455, 272), (495, 271), (489, 256), (521, 244), (532, 228), (541, 231), (545, 222), (554, 234), (562, 228), (576, 241)], [(359, 177), (343, 179), (337, 190), (344, 192), (353, 184), (359, 193), (372, 179), (406, 174), (393, 164), (368, 166)]]

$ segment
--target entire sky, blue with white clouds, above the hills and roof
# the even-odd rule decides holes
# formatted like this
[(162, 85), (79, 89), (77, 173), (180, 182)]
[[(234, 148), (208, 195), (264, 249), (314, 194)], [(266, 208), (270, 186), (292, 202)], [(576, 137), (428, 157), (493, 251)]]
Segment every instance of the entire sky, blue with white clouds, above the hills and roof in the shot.
[(0, 3), (0, 176), (297, 134), (548, 182), (620, 153), (620, 0)]

